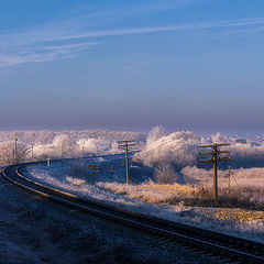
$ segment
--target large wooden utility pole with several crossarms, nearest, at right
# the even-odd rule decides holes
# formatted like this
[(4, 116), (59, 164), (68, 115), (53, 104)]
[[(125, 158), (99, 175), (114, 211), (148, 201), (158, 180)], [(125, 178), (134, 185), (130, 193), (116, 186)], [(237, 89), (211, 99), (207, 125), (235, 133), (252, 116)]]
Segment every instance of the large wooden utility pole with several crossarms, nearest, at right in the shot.
[(218, 162), (230, 161), (230, 156), (221, 156), (221, 154), (230, 154), (230, 151), (220, 151), (220, 146), (229, 146), (229, 143), (215, 143), (209, 145), (201, 145), (200, 147), (211, 147), (211, 152), (199, 152), (200, 155), (211, 156), (207, 160), (200, 160), (201, 163), (212, 162), (213, 164), (213, 199), (218, 200)]

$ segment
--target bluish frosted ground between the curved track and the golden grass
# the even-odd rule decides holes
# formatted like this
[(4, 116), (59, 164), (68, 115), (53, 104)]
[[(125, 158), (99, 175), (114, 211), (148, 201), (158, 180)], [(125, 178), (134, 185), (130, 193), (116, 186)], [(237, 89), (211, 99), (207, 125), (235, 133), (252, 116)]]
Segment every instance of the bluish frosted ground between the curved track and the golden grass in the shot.
[[(154, 202), (151, 200), (145, 201), (145, 196), (139, 194), (139, 189), (142, 191), (142, 188), (140, 188), (141, 184), (144, 184), (144, 180), (146, 180), (145, 176), (139, 177), (133, 175), (131, 177), (132, 185), (127, 186), (124, 184), (125, 174), (122, 160), (122, 156), (87, 160), (85, 162), (87, 164), (101, 164), (100, 173), (95, 176), (96, 186), (90, 185), (90, 173), (84, 170), (86, 166), (75, 164), (75, 166), (70, 161), (54, 162), (51, 167), (47, 167), (46, 164), (29, 166), (24, 168), (23, 173), (28, 177), (45, 183), (46, 185), (55, 186), (85, 198), (102, 200), (151, 216), (264, 242), (264, 220), (252, 220), (246, 223), (232, 219), (221, 220), (215, 217), (216, 210), (218, 210), (216, 208), (186, 207), (184, 204), (175, 206), (163, 202), (156, 204), (155, 199), (158, 199), (158, 196), (168, 195), (167, 191), (161, 193), (157, 188), (147, 190), (150, 193), (148, 197), (152, 197)], [(111, 166), (113, 166), (113, 172)], [(73, 167), (78, 167), (79, 172), (76, 169), (73, 170)]]

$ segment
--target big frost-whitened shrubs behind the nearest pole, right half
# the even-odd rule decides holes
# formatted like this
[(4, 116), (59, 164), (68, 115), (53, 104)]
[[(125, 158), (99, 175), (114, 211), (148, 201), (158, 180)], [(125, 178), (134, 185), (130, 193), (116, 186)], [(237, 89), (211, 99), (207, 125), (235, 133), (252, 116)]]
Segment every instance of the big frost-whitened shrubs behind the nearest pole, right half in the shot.
[(170, 164), (177, 172), (180, 172), (186, 166), (198, 166), (208, 169), (210, 166), (199, 163), (199, 145), (229, 142), (231, 145), (226, 148), (231, 152), (231, 162), (221, 163), (222, 168), (227, 169), (228, 166), (234, 168), (263, 167), (263, 139), (248, 138), (243, 141), (238, 139), (238, 136), (224, 136), (221, 133), (202, 138), (190, 131), (165, 134), (161, 127), (156, 127), (148, 133), (146, 144), (142, 152), (135, 155), (135, 160), (152, 167), (157, 167), (158, 164)]

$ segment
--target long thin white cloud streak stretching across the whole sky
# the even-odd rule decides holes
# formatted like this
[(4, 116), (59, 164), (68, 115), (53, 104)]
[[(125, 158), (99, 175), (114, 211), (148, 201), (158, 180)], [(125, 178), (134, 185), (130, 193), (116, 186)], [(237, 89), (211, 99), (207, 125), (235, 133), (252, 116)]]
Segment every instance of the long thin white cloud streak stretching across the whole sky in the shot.
[[(127, 28), (127, 29), (110, 29), (110, 30), (97, 30), (97, 31), (82, 31), (79, 33), (56, 31), (55, 29), (38, 29), (31, 30), (23, 33), (14, 34), (2, 34), (0, 38), (3, 45), (16, 46), (16, 45), (29, 45), (36, 43), (58, 42), (58, 41), (70, 41), (81, 38), (95, 38), (106, 36), (118, 36), (118, 35), (131, 35), (131, 34), (144, 34), (155, 32), (169, 32), (169, 31), (199, 31), (199, 30), (211, 30), (211, 29), (230, 29), (230, 28), (245, 28), (249, 26), (264, 25), (264, 18), (254, 18), (245, 20), (228, 20), (217, 22), (204, 22), (204, 23), (185, 23), (169, 26), (143, 26), (143, 28)], [(252, 28), (254, 30), (255, 28)]]

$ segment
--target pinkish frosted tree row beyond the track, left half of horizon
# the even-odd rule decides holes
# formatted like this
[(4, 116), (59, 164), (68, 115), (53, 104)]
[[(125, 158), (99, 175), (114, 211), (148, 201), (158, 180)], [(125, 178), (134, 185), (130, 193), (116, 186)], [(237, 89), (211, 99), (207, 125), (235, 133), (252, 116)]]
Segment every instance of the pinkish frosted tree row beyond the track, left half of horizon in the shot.
[(46, 157), (80, 157), (88, 155), (103, 155), (119, 153), (117, 141), (135, 140), (142, 147), (145, 143), (145, 134), (136, 132), (112, 132), (106, 130), (87, 131), (19, 131), (0, 132), (0, 164), (14, 162), (14, 148), (16, 142), (18, 162), (43, 160)]

